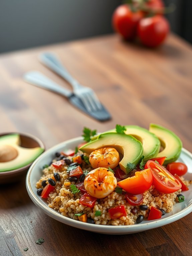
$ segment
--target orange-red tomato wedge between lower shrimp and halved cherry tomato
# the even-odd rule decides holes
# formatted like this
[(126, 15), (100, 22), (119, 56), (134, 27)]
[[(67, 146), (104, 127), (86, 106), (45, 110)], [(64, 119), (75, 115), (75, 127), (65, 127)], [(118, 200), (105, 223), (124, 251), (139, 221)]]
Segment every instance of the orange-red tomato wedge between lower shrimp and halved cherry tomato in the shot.
[(136, 171), (135, 176), (119, 181), (118, 185), (125, 191), (138, 195), (147, 191), (152, 185), (152, 181), (153, 175), (149, 168), (143, 171)]

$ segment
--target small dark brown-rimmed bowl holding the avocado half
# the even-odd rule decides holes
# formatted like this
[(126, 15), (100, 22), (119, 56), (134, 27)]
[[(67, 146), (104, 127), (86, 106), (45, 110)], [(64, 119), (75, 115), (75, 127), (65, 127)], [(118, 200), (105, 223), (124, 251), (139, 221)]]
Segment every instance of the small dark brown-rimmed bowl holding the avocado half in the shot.
[[(12, 134), (12, 133), (18, 133), (20, 135), (20, 140), (21, 140), (20, 146), (25, 147), (25, 148), (41, 147), (45, 151), (45, 146), (44, 146), (43, 142), (31, 134), (19, 133), (19, 132), (9, 132), (9, 133), (1, 133), (0, 137), (4, 136), (4, 135)], [(22, 166), (18, 169), (15, 169), (15, 170), (0, 172), (0, 184), (18, 181), (22, 175), (27, 173), (27, 171), (32, 163), (33, 162), (31, 162), (25, 166)]]

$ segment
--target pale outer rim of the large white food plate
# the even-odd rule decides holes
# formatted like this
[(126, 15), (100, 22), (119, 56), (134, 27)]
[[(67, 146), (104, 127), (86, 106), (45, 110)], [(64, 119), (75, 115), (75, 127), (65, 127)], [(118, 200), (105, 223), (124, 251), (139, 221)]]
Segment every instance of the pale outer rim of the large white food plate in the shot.
[[(49, 148), (48, 150), (46, 150), (45, 152), (43, 152), (31, 165), (31, 167), (29, 168), (28, 172), (27, 172), (27, 176), (26, 176), (26, 188), (27, 188), (27, 193), (29, 195), (29, 197), (31, 198), (31, 200), (33, 201), (33, 203), (39, 208), (41, 209), (46, 215), (48, 215), (49, 217), (72, 227), (75, 228), (79, 228), (79, 229), (83, 229), (83, 230), (87, 230), (87, 231), (91, 231), (91, 232), (96, 232), (96, 233), (103, 233), (103, 234), (131, 234), (131, 233), (137, 233), (137, 232), (142, 232), (142, 231), (146, 231), (149, 229), (153, 229), (153, 228), (158, 228), (158, 227), (162, 227), (164, 225), (170, 224), (174, 221), (177, 221), (183, 217), (185, 217), (186, 215), (188, 215), (189, 213), (192, 212), (192, 202), (184, 209), (182, 209), (180, 212), (173, 214), (171, 216), (168, 216), (164, 219), (159, 219), (159, 220), (154, 220), (154, 221), (149, 221), (147, 223), (140, 223), (140, 224), (133, 224), (133, 225), (122, 225), (122, 226), (113, 226), (113, 225), (101, 225), (101, 224), (90, 224), (90, 223), (84, 223), (84, 222), (80, 222), (74, 219), (71, 219), (69, 217), (65, 217), (63, 215), (61, 215), (59, 212), (55, 211), (52, 208), (49, 208), (48, 206), (45, 206), (35, 195), (35, 193), (32, 190), (32, 186), (31, 186), (31, 182), (30, 182), (30, 175), (31, 172), (34, 169), (34, 166), (36, 165), (36, 163), (38, 163), (38, 161), (44, 157), (44, 155), (46, 155), (49, 152), (54, 151), (54, 149), (60, 147), (60, 146), (64, 146), (64, 144), (69, 144), (69, 143), (73, 143), (75, 141), (78, 140), (83, 140), (82, 137), (75, 137), (63, 142), (60, 142), (58, 144), (56, 144), (55, 146)], [(182, 152), (187, 154), (191, 160), (192, 160), (192, 153), (189, 152), (187, 149), (182, 148)]]

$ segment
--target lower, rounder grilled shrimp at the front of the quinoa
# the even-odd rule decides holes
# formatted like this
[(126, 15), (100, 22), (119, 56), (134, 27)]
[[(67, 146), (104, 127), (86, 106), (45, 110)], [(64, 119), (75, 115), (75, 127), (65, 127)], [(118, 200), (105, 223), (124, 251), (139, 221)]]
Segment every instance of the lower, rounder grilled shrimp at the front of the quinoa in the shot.
[(116, 186), (117, 179), (113, 172), (103, 167), (90, 171), (84, 179), (84, 187), (87, 193), (95, 198), (107, 197)]

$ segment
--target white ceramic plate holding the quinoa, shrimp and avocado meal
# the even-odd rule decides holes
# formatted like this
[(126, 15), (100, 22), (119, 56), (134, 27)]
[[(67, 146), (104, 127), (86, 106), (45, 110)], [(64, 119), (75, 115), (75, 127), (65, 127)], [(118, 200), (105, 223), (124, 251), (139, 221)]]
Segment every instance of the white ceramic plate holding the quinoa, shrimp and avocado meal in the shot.
[[(190, 185), (190, 189), (188, 191), (182, 192), (182, 194), (185, 196), (185, 201), (183, 203), (176, 203), (173, 212), (165, 214), (160, 220), (145, 220), (141, 224), (135, 224), (130, 226), (108, 226), (84, 223), (62, 216), (60, 213), (49, 208), (46, 201), (37, 195), (37, 189), (35, 187), (36, 181), (39, 180), (39, 178), (42, 176), (42, 166), (51, 162), (56, 152), (63, 151), (64, 149), (74, 149), (78, 144), (82, 142), (82, 137), (78, 137), (67, 140), (50, 148), (34, 161), (27, 173), (26, 187), (29, 197), (38, 208), (40, 208), (45, 214), (47, 214), (51, 218), (79, 229), (103, 234), (120, 235), (132, 234), (161, 227), (171, 222), (177, 221), (192, 212), (192, 184)], [(183, 148), (178, 161), (184, 162), (188, 167), (188, 173), (185, 175), (186, 179), (192, 179), (192, 154)]]

